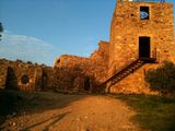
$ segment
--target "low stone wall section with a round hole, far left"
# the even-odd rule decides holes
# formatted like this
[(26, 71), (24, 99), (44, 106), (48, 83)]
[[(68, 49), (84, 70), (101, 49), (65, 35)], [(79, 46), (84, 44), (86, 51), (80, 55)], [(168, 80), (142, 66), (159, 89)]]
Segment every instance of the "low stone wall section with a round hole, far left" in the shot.
[(0, 60), (3, 88), (19, 91), (40, 91), (42, 67), (22, 61)]

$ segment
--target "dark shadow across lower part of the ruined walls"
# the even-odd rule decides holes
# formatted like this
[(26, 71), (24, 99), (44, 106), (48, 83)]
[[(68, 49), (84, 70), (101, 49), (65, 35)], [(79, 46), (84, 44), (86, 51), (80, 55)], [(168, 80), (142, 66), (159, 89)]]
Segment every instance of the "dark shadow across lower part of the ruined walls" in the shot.
[[(34, 74), (30, 74), (34, 75), (32, 78), (35, 80), (32, 85), (27, 84), (31, 81), (27, 73), (20, 75), (20, 79), (18, 78), (18, 75), (21, 73), (23, 73), (22, 69), (18, 69), (16, 71), (14, 68), (8, 68), (5, 81), (7, 90), (46, 92), (55, 91), (58, 93), (68, 94), (104, 92), (104, 87), (98, 88), (101, 83), (95, 79), (96, 74), (94, 74), (91, 66), (89, 64), (74, 64), (71, 67), (61, 67), (55, 69), (49, 67), (42, 67), (40, 71), (38, 72), (38, 78), (36, 78)], [(22, 85), (18, 85), (18, 83), (22, 83)]]

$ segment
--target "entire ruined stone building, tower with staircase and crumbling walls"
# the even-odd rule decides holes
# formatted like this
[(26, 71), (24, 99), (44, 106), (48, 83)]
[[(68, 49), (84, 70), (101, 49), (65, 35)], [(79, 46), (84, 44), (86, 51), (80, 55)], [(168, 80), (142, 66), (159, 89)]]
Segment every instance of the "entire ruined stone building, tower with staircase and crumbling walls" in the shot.
[(89, 58), (62, 55), (52, 68), (0, 60), (0, 87), (150, 94), (144, 75), (164, 60), (175, 62), (173, 4), (118, 0), (109, 41)]

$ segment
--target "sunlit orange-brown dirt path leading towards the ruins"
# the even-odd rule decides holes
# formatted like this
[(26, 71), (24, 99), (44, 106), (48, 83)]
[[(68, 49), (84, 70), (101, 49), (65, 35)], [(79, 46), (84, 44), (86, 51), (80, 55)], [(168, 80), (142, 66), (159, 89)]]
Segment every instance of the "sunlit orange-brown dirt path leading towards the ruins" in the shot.
[(108, 96), (44, 93), (26, 97), (25, 111), (9, 117), (4, 131), (140, 131), (130, 120), (135, 112)]

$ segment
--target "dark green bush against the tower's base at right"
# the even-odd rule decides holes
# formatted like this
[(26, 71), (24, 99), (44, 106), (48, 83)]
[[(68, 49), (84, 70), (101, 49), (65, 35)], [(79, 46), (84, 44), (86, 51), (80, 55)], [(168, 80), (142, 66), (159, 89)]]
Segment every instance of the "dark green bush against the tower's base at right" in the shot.
[(175, 64), (165, 61), (158, 69), (150, 69), (145, 74), (145, 81), (152, 91), (159, 91), (162, 94), (175, 92)]

